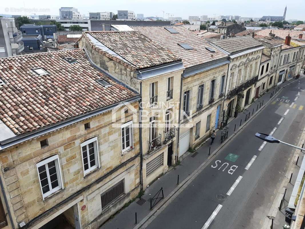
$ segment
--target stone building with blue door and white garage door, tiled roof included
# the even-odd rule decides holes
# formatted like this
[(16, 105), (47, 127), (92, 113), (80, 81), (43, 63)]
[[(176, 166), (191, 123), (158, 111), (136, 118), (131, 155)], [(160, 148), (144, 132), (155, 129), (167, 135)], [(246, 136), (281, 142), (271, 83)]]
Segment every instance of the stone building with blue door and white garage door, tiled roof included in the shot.
[[(210, 137), (220, 126), (228, 55), (183, 26), (132, 27), (181, 56), (178, 157)], [(176, 90), (176, 88), (175, 88)], [(178, 93), (178, 92), (175, 92)]]

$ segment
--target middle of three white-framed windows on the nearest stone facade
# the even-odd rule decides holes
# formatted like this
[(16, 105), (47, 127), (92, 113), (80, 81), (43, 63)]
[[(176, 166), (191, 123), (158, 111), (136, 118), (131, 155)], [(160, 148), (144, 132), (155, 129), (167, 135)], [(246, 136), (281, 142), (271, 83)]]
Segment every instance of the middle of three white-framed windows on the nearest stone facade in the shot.
[(91, 138), (81, 144), (81, 152), (84, 166), (84, 175), (96, 169), (98, 162), (97, 137)]

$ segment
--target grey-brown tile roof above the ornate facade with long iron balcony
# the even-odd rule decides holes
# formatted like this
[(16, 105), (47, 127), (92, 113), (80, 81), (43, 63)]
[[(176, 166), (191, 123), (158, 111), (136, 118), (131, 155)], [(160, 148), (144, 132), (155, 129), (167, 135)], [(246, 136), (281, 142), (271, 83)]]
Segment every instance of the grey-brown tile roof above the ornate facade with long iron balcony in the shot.
[(227, 38), (218, 41), (211, 41), (214, 45), (217, 45), (221, 49), (224, 49), (228, 53), (236, 53), (246, 49), (262, 46), (260, 42), (250, 36)]

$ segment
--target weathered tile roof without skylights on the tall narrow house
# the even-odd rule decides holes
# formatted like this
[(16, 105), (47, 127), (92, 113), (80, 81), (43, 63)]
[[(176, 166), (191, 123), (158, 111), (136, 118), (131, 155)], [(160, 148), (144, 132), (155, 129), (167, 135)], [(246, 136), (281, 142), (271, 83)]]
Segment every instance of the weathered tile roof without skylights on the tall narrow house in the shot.
[[(124, 58), (126, 63), (135, 69), (155, 67), (181, 60), (171, 51), (161, 47), (138, 31), (90, 31), (83, 34), (89, 40), (88, 35), (91, 35), (108, 49)], [(98, 45), (95, 47), (101, 49)], [(103, 51), (107, 52), (107, 50)], [(112, 55), (111, 52), (108, 53)]]

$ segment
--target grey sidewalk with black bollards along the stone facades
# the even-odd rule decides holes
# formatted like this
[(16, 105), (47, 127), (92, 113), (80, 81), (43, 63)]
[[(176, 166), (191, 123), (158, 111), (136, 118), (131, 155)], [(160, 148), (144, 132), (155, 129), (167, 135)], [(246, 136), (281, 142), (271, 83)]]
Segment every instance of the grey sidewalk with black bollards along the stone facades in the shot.
[[(303, 77), (303, 75), (300, 76), (300, 78)], [(298, 79), (291, 79), (288, 82), (282, 83), (281, 89), (292, 82), (297, 81)], [(274, 87), (273, 89), (270, 89), (268, 93), (261, 96), (259, 99), (257, 99), (253, 104), (251, 104), (249, 107), (246, 108), (245, 111), (238, 114), (237, 118), (234, 118), (225, 128), (224, 130), (228, 131), (228, 139), (230, 137), (234, 136), (234, 133), (236, 133), (240, 129), (240, 123), (242, 123), (241, 127), (245, 124), (245, 118), (246, 115), (250, 112), (250, 120), (253, 115), (256, 114), (257, 109), (260, 111), (260, 104), (263, 106), (267, 104), (267, 102), (270, 99), (274, 99), (275, 95), (278, 94), (278, 91), (275, 93), (275, 90), (279, 88)], [(270, 98), (271, 93), (274, 91), (274, 96)], [(281, 91), (281, 90), (280, 90)], [(254, 109), (254, 112), (253, 112)], [(252, 115), (253, 112), (253, 115)], [(249, 120), (249, 121), (250, 121)], [(247, 118), (248, 122), (248, 118)], [(236, 129), (234, 132), (234, 128), (236, 125)], [(218, 132), (218, 131), (217, 131)], [(145, 194), (142, 196), (142, 199), (136, 199), (134, 202), (132, 202), (128, 207), (121, 210), (119, 213), (117, 213), (112, 219), (109, 219), (102, 227), (101, 229), (132, 229), (136, 226), (135, 224), (135, 213), (137, 213), (137, 226), (139, 225), (139, 222), (143, 220), (149, 213), (153, 213), (158, 210), (159, 206), (155, 206), (152, 210), (150, 210), (150, 198), (152, 198), (161, 187), (163, 187), (163, 193), (164, 198), (168, 197), (169, 194), (173, 195), (173, 191), (175, 188), (178, 187), (177, 185), (177, 178), (179, 175), (179, 183), (188, 180), (191, 175), (200, 165), (202, 165), (204, 162), (207, 162), (207, 159), (209, 157), (209, 148), (211, 147), (210, 154), (216, 154), (217, 151), (221, 148), (220, 143), (220, 132), (217, 133), (217, 136), (214, 140), (213, 145), (210, 145), (210, 139), (207, 139), (200, 147), (196, 149), (194, 153), (185, 153), (186, 156), (184, 156), (184, 159), (181, 161), (181, 165), (178, 165), (171, 169), (168, 173), (161, 176), (158, 180), (156, 180), (151, 186), (149, 186), (145, 190)], [(222, 145), (225, 145), (226, 142), (222, 143)], [(211, 157), (211, 156), (210, 156)], [(181, 159), (180, 159), (181, 160)], [(288, 197), (288, 195), (286, 195)], [(161, 200), (163, 201), (163, 200)], [(148, 217), (145, 218), (147, 220)], [(143, 223), (143, 222), (142, 222)]]

